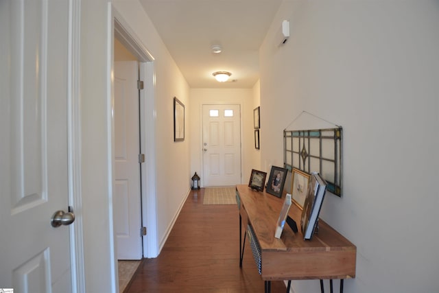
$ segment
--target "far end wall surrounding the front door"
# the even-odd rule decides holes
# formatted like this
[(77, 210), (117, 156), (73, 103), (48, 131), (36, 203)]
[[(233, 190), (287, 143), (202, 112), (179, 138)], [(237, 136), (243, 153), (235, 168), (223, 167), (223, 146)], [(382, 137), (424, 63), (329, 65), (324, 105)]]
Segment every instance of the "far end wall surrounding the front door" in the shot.
[(202, 172), (202, 105), (203, 104), (239, 104), (241, 105), (241, 143), (242, 143), (242, 178), (241, 183), (248, 183), (253, 166), (254, 132), (253, 132), (253, 91), (252, 89), (191, 89), (191, 174)]

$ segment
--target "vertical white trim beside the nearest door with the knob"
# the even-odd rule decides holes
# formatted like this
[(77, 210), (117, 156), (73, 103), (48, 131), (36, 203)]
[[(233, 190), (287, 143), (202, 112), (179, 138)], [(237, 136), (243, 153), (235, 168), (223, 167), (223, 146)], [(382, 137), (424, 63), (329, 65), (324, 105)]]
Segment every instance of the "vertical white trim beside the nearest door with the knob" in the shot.
[(81, 194), (80, 0), (69, 1), (69, 75), (67, 82), (69, 205), (75, 222), (70, 228), (72, 292), (85, 292), (84, 235)]

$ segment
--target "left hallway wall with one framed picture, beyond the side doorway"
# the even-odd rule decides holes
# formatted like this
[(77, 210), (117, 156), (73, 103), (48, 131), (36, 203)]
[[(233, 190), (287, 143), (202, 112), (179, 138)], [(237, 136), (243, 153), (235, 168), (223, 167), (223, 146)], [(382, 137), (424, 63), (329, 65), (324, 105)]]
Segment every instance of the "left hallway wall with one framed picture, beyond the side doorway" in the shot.
[[(189, 86), (140, 3), (114, 1), (113, 5), (154, 57), (156, 211), (158, 246), (161, 248), (190, 189)], [(174, 142), (174, 97), (185, 104), (185, 141), (180, 142)]]

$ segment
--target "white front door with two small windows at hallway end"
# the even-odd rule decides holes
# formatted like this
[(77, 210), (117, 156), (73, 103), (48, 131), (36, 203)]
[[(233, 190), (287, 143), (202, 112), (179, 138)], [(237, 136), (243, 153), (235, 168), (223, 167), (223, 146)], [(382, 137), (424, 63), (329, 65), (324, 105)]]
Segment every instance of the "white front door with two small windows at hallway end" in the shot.
[(204, 186), (241, 184), (239, 105), (203, 105)]

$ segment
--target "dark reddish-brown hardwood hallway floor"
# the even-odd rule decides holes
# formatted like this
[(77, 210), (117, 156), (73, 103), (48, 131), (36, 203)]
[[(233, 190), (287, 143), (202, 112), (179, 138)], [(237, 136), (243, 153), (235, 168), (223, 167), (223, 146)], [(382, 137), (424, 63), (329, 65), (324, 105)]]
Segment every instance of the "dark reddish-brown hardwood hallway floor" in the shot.
[[(204, 205), (203, 196), (191, 191), (160, 255), (143, 260), (126, 293), (264, 292), (248, 241), (239, 268), (237, 205)], [(278, 292), (285, 285), (274, 281)]]

